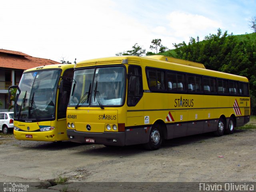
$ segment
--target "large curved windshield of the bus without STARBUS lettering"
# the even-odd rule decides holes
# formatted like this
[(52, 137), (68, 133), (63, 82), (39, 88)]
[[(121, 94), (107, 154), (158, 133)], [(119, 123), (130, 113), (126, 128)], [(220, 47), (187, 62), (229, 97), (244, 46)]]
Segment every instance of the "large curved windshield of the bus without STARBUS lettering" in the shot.
[(18, 120), (53, 120), (61, 70), (24, 73), (20, 93), (16, 95), (14, 118)]

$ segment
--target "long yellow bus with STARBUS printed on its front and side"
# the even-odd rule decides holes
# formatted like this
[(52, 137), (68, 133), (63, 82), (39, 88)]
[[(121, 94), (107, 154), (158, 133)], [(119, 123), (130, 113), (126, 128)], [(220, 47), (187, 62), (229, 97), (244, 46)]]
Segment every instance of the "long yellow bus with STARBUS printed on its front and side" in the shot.
[(158, 149), (164, 139), (232, 134), (250, 120), (248, 79), (166, 56), (76, 64), (67, 108), (70, 141)]

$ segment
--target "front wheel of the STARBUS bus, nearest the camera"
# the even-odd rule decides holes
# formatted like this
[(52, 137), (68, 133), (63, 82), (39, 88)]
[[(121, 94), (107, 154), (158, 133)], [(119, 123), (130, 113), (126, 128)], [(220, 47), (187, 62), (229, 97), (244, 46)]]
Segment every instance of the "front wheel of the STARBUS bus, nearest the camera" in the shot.
[(161, 125), (156, 123), (152, 126), (149, 135), (148, 143), (144, 144), (144, 148), (147, 150), (157, 150), (160, 148), (163, 142), (162, 128)]

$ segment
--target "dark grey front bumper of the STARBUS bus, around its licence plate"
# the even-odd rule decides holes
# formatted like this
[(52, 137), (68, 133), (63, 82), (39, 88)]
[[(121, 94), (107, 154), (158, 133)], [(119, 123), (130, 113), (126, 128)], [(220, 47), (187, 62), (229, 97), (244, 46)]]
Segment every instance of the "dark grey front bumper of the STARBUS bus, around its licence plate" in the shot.
[(91, 142), (94, 144), (103, 144), (103, 145), (110, 145), (110, 146), (125, 146), (124, 132), (89, 133), (89, 132), (80, 132), (80, 131), (68, 129), (67, 135), (70, 141), (77, 142), (77, 143), (90, 143), (90, 142), (86, 142), (86, 138), (89, 138), (94, 140), (94, 142)]

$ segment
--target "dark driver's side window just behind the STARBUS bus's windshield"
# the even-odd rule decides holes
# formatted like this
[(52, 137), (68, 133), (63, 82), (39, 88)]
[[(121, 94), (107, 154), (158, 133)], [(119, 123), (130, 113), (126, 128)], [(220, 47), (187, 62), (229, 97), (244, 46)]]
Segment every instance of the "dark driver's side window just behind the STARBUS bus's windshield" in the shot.
[(128, 68), (127, 105), (136, 106), (142, 98), (142, 72), (139, 66)]

